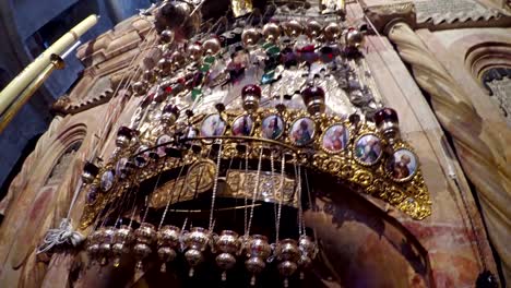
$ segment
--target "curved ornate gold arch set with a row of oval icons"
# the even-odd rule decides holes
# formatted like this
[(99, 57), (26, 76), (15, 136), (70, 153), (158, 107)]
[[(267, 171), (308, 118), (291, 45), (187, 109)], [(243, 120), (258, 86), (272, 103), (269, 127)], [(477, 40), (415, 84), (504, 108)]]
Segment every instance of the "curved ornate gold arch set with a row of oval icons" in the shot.
[[(119, 137), (124, 135), (120, 133)], [(100, 169), (91, 184), (92, 190), (99, 192), (86, 206), (83, 227), (128, 189), (168, 170), (186, 167), (187, 172), (159, 185), (151, 206), (163, 207), (170, 199), (175, 203), (174, 193), (181, 192), (179, 201), (187, 201), (195, 192), (210, 191), (217, 173), (212, 151), (225, 161), (239, 158), (269, 163), (284, 157), (287, 165), (334, 176), (413, 218), (423, 219), (431, 213), (419, 160), (412, 147), (402, 140), (390, 144), (372, 122), (325, 113), (311, 116), (300, 110), (222, 111), (193, 116), (187, 125), (169, 125), (158, 137), (144, 142), (119, 149)], [(255, 175), (257, 169), (226, 169), (218, 176), (225, 185), (217, 195), (252, 195)], [(278, 179), (280, 171), (263, 171), (257, 199), (278, 203), (282, 189)], [(295, 176), (286, 175), (284, 183), (284, 204), (296, 206)]]

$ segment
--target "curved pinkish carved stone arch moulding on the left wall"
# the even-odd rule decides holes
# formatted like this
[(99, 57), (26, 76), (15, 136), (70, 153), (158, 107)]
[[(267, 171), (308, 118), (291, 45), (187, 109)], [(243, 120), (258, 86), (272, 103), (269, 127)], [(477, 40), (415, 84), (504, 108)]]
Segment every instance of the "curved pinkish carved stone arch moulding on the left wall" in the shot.
[(40, 286), (46, 275), (47, 265), (36, 256), (35, 248), (46, 230), (58, 226), (61, 217), (66, 217), (78, 175), (69, 170), (76, 170), (76, 164), (82, 163), (78, 156), (85, 137), (85, 124), (63, 125), (60, 133), (52, 134), (44, 155), (34, 166), (44, 181), (34, 187), (32, 205), (27, 206), (22, 228), (17, 231), (19, 240), (12, 244), (10, 256), (12, 268), (21, 268), (21, 287)]

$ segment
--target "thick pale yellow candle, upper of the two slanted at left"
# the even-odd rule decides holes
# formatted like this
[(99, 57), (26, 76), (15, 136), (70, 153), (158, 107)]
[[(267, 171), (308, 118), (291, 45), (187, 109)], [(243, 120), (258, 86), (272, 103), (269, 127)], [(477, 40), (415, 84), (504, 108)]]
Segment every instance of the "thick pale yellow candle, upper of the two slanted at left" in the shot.
[(96, 25), (97, 20), (98, 16), (93, 14), (80, 22), (76, 26), (48, 47), (48, 49), (46, 49), (41, 55), (39, 55), (39, 57), (27, 65), (16, 77), (14, 77), (11, 83), (0, 92), (0, 115), (3, 115), (5, 109), (16, 99), (23, 89), (25, 89), (39, 75), (39, 73), (50, 64), (51, 55), (55, 53), (60, 56), (71, 45), (73, 45), (80, 36)]

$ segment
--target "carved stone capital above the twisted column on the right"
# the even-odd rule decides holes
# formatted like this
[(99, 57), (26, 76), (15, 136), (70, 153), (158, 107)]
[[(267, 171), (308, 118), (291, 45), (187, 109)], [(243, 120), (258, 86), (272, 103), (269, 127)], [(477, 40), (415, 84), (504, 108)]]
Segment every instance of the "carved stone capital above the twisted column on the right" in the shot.
[(393, 23), (404, 22), (415, 27), (417, 20), (415, 4), (412, 1), (397, 1), (392, 4), (381, 4), (378, 0), (363, 0), (365, 14), (375, 24), (378, 32), (387, 34)]

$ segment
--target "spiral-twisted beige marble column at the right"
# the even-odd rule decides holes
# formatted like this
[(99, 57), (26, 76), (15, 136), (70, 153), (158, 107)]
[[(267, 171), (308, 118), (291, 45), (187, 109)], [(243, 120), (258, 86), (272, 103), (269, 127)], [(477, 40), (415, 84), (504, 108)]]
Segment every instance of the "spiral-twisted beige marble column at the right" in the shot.
[(486, 123), (449, 71), (412, 27), (403, 22), (388, 29), (401, 58), (411, 65), (417, 84), (431, 97), (432, 109), (452, 136), (463, 169), (475, 185), (488, 233), (511, 281), (511, 143), (510, 130)]

